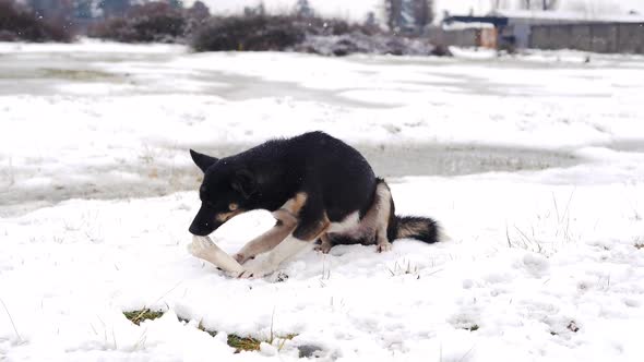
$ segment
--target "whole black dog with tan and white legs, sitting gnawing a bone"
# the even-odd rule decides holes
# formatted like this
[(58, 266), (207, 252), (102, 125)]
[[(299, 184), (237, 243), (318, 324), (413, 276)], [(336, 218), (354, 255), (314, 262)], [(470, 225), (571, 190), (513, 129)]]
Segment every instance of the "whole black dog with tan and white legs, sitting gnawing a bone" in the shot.
[(277, 219), (273, 229), (235, 255), (245, 263), (272, 250), (263, 264), (242, 277), (274, 272), (318, 239), (323, 252), (339, 243), (377, 244), (382, 252), (399, 238), (438, 241), (434, 220), (395, 216), (384, 180), (375, 178), (355, 148), (323, 132), (269, 141), (222, 159), (192, 149), (190, 154), (204, 172), (202, 205), (191, 233), (207, 236), (252, 209), (270, 210)]

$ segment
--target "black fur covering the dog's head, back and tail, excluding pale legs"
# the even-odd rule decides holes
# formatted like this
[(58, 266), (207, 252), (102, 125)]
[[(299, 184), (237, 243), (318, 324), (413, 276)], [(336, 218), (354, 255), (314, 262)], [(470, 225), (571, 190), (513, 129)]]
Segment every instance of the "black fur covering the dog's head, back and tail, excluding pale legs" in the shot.
[[(202, 205), (190, 226), (190, 232), (196, 236), (215, 231), (225, 222), (225, 216), (251, 209), (274, 212), (297, 193), (305, 193), (307, 200), (297, 215), (294, 237), (309, 240), (329, 222), (339, 222), (355, 212), (362, 217), (374, 201), (377, 184), (384, 182), (375, 178), (360, 153), (323, 132), (269, 141), (220, 159), (192, 149), (190, 154), (204, 172), (200, 188)], [(235, 214), (230, 204), (238, 207)], [(409, 228), (418, 232), (401, 233)], [(436, 222), (397, 218), (391, 200), (387, 239), (401, 237), (434, 242)]]

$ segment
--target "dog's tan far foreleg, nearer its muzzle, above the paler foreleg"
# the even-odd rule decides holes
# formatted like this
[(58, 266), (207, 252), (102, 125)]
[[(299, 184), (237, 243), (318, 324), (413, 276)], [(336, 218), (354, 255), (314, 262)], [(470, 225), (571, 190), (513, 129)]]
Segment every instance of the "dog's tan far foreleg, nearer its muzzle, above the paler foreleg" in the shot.
[(273, 213), (273, 216), (277, 219), (277, 224), (271, 230), (249, 241), (234, 255), (239, 264), (246, 263), (258, 254), (273, 250), (297, 227), (297, 218), (287, 210), (279, 209)]

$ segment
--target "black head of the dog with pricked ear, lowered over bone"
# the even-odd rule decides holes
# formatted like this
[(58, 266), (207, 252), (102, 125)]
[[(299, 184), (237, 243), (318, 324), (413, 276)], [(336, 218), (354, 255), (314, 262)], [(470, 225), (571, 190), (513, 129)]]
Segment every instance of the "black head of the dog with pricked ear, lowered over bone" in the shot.
[(205, 237), (231, 217), (248, 210), (257, 183), (252, 172), (234, 159), (217, 159), (192, 149), (190, 155), (203, 171), (203, 182), (199, 189), (201, 208), (189, 231)]

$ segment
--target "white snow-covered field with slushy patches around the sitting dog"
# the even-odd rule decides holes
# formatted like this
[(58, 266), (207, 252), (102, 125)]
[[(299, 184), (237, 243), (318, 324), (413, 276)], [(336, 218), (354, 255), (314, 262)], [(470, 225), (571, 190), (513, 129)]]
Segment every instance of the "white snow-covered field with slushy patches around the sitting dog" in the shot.
[[(0, 360), (640, 361), (644, 58), (455, 52), (0, 44)], [(310, 130), (451, 240), (309, 251), (255, 280), (189, 255), (188, 148)], [(232, 253), (271, 225), (213, 237)], [(122, 314), (144, 307), (167, 312)], [(296, 336), (235, 353), (227, 334)]]

